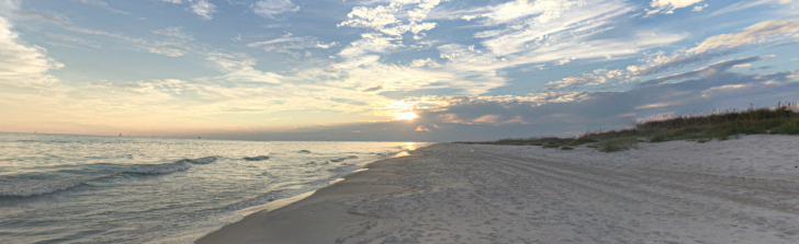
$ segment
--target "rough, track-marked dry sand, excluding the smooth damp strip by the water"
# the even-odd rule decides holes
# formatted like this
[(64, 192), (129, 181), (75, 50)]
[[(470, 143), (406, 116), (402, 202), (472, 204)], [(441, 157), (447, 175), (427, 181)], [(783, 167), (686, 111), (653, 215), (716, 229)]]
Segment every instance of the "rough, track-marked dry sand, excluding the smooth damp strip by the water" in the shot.
[(799, 174), (691, 169), (646, 150), (663, 151), (436, 144), (407, 161), (403, 177), (375, 179), (403, 190), (340, 201), (359, 217), (340, 223), (360, 229), (333, 235), (338, 243), (799, 243)]

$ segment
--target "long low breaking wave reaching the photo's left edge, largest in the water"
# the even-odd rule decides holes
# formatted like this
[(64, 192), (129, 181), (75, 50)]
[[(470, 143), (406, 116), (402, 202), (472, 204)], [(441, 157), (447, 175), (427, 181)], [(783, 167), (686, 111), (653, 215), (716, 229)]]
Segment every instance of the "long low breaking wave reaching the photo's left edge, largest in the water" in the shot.
[[(187, 171), (191, 169), (193, 164), (209, 164), (216, 161), (217, 156), (205, 156), (200, 159), (184, 159), (173, 163), (165, 164), (148, 164), (148, 165), (130, 165), (127, 169), (114, 169), (100, 173), (97, 175), (83, 177), (80, 179), (72, 179), (69, 182), (54, 183), (45, 186), (34, 186), (24, 189), (11, 189), (7, 191), (0, 191), (0, 197), (32, 197), (43, 196), (53, 193), (58, 193), (79, 186), (87, 185), (88, 183), (100, 181), (104, 178), (111, 178), (119, 175), (128, 176), (155, 176), (155, 175), (167, 175), (176, 172)], [(131, 169), (133, 167), (133, 169)], [(72, 172), (72, 171), (65, 171)], [(34, 177), (31, 177), (34, 178)], [(30, 181), (30, 179), (29, 179)]]

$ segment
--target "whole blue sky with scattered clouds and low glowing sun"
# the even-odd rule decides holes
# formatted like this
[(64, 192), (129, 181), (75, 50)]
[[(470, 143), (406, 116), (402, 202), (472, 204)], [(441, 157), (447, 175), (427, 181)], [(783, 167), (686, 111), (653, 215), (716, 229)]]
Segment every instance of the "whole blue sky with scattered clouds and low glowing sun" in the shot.
[(0, 131), (577, 136), (799, 102), (797, 0), (0, 0)]

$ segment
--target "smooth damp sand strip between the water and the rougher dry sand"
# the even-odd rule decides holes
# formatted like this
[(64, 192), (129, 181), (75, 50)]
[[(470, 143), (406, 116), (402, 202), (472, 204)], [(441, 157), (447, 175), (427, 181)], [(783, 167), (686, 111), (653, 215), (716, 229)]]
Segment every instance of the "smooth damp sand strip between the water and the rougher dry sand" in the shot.
[[(345, 204), (355, 198), (404, 190), (405, 187), (378, 185), (376, 182), (402, 176), (408, 161), (424, 156), (421, 149), (424, 147), (407, 152), (407, 155), (368, 163), (363, 166), (368, 170), (358, 170), (345, 176), (344, 181), (334, 181), (314, 191), (281, 199), (291, 202), (271, 206), (272, 202), (269, 202), (256, 206), (255, 211), (251, 208), (239, 210), (247, 213), (241, 220), (205, 234), (194, 243), (334, 243), (356, 234), (365, 229), (357, 223), (370, 218), (351, 214)], [(299, 199), (289, 200), (292, 198)]]

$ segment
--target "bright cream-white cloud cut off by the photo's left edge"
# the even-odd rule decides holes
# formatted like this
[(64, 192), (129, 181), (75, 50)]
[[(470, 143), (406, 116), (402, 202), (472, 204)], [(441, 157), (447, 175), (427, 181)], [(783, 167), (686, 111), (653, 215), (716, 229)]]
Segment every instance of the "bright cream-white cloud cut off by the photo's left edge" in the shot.
[(0, 83), (41, 85), (57, 82), (47, 72), (64, 68), (64, 65), (48, 57), (46, 49), (25, 44), (12, 27), (11, 22), (0, 16)]

